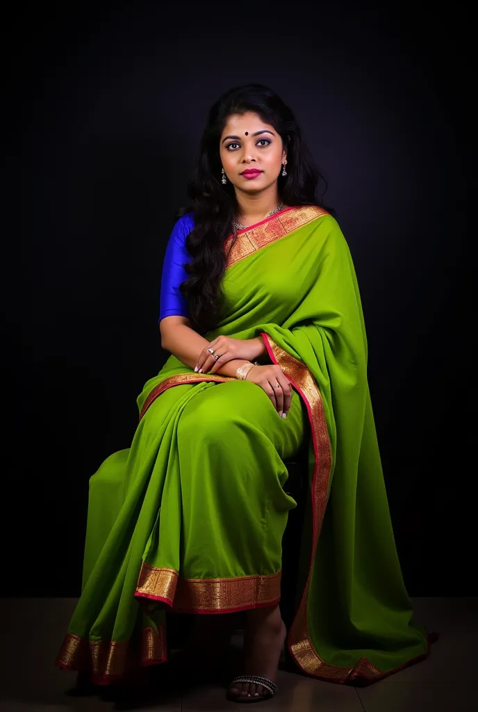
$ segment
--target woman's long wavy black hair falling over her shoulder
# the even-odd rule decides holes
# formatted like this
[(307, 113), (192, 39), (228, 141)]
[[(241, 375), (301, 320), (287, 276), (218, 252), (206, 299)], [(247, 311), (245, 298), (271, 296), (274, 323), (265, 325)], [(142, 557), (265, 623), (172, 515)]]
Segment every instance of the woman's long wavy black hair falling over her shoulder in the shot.
[[(278, 179), (280, 199), (287, 206), (322, 206), (326, 191), (326, 181), (302, 141), (292, 110), (275, 92), (260, 84), (248, 84), (230, 89), (216, 101), (209, 110), (188, 182), (188, 205), (178, 213), (193, 213), (194, 228), (186, 239), (191, 262), (186, 265), (188, 279), (181, 284), (181, 292), (188, 302), (191, 325), (199, 333), (216, 328), (218, 323), (227, 258), (224, 242), (234, 233), (238, 209), (233, 184), (221, 183), (219, 143), (228, 117), (245, 112), (254, 112), (273, 126), (287, 148), (287, 176)], [(319, 184), (322, 192), (317, 197)]]

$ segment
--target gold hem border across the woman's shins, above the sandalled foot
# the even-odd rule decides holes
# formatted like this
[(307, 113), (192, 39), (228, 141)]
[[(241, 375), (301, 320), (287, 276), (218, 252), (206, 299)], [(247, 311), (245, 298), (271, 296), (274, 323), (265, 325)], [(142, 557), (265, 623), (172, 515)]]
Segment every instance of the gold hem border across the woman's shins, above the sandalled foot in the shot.
[(280, 601), (281, 572), (232, 578), (185, 579), (174, 569), (143, 562), (135, 596), (164, 602), (176, 613), (235, 613)]

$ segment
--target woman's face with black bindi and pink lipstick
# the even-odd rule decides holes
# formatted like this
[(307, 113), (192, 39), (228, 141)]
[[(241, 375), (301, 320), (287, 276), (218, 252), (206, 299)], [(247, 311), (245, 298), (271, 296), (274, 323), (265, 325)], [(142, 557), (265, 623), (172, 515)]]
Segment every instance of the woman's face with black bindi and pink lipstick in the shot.
[(287, 152), (277, 131), (248, 112), (228, 118), (221, 134), (220, 156), (235, 189), (257, 193), (277, 182)]

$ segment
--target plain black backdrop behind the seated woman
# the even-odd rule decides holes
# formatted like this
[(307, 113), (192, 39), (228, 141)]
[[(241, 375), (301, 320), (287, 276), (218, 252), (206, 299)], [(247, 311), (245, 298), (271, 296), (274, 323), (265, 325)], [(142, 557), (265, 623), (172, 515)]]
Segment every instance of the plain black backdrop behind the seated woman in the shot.
[(476, 592), (471, 20), (383, 5), (47, 3), (13, 19), (4, 595), (78, 595), (88, 478), (129, 446), (164, 362), (161, 261), (206, 112), (250, 81), (296, 112), (354, 256), (408, 590)]

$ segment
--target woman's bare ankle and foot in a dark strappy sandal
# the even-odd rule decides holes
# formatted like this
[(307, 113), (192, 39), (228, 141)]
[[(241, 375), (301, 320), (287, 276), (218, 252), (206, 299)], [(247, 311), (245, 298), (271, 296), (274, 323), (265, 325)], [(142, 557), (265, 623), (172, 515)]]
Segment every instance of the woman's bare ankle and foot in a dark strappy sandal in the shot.
[[(245, 622), (243, 674), (267, 677), (275, 682), (280, 652), (287, 634), (279, 606), (248, 611)], [(232, 697), (257, 697), (267, 692), (262, 685), (248, 683), (235, 683), (229, 688)]]

